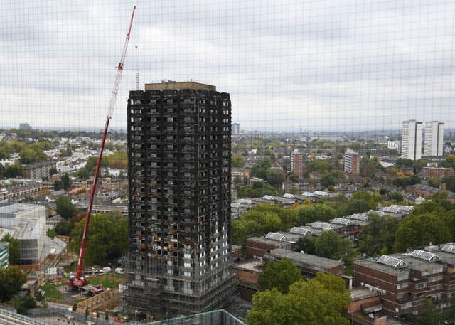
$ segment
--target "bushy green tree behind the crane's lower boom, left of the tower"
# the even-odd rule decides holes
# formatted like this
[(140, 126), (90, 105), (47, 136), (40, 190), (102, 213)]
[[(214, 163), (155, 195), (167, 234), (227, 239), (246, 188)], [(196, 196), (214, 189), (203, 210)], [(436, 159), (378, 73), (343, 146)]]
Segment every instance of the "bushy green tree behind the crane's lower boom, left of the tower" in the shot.
[[(75, 223), (75, 227), (71, 230), (70, 243), (68, 245), (69, 250), (79, 252), (84, 225), (84, 219)], [(85, 255), (87, 265), (120, 257), (124, 254), (127, 247), (127, 217), (113, 213), (92, 215), (87, 234), (87, 250)]]

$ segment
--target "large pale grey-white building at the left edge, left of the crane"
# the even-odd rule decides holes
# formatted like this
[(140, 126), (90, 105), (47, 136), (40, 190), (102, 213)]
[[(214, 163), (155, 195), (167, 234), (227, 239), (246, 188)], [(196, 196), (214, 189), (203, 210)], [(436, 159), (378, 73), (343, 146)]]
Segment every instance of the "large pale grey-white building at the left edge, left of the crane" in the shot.
[(46, 252), (45, 207), (26, 203), (0, 203), (0, 238), (6, 233), (19, 240), (21, 265), (41, 262)]

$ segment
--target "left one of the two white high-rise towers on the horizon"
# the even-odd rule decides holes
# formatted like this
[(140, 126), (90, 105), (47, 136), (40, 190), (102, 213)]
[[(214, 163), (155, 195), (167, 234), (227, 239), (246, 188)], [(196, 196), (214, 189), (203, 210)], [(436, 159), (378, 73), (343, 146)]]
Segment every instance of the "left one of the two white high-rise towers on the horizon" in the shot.
[(422, 122), (414, 119), (403, 121), (401, 156), (411, 160), (422, 158)]

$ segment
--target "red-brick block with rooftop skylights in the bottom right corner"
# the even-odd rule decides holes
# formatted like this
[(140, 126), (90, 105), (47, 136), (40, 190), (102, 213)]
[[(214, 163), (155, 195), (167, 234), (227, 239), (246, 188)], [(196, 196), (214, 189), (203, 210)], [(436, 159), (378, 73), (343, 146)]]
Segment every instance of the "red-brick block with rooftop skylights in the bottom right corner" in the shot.
[(451, 307), (455, 297), (455, 245), (432, 245), (405, 254), (354, 261), (355, 284), (380, 292), (387, 316), (418, 314), (426, 299), (434, 311)]

